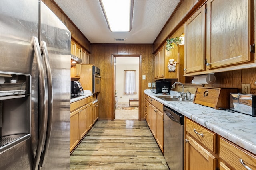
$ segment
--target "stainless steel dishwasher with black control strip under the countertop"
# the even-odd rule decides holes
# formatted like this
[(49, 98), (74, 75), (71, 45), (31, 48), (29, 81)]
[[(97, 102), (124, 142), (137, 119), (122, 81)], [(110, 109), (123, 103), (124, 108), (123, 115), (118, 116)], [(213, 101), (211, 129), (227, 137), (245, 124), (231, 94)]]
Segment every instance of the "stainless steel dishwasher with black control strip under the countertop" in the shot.
[(164, 158), (170, 170), (184, 170), (184, 115), (164, 106)]

